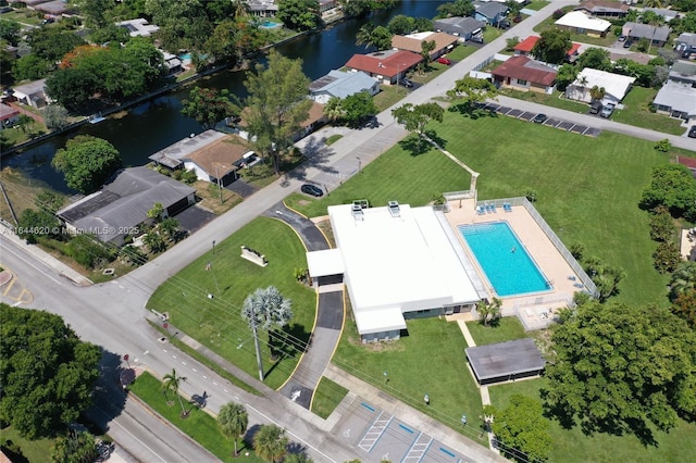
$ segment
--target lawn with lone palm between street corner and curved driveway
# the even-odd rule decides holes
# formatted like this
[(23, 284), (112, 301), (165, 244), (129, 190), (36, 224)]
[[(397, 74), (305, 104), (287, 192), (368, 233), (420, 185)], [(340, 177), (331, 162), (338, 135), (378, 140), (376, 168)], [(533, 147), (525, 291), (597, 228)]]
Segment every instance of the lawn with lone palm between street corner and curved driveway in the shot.
[[(240, 246), (265, 254), (269, 265), (261, 267), (239, 256)], [(215, 255), (208, 252), (160, 286), (148, 309), (169, 312), (171, 323), (227, 361), (257, 377), (257, 361), (251, 329), (240, 317), (244, 300), (258, 288), (275, 286), (293, 300), (293, 320), (288, 330), (300, 349), (314, 325), (314, 291), (295, 280), (294, 271), (307, 267), (306, 249), (284, 223), (259, 217), (239, 232), (216, 243)], [(212, 262), (212, 268), (206, 271)], [(215, 283), (216, 280), (216, 283)], [(220, 290), (217, 290), (220, 288)], [(214, 299), (209, 299), (208, 293)], [(265, 383), (278, 388), (295, 368), (299, 354), (288, 353), (271, 362), (268, 336), (260, 331)], [(291, 349), (287, 349), (288, 351)]]

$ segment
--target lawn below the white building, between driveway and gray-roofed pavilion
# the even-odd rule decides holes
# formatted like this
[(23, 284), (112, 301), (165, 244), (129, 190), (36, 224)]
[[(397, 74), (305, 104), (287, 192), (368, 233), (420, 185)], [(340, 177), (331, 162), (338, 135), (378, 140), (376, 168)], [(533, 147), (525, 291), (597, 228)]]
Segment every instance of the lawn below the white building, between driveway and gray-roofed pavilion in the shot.
[[(407, 328), (409, 335), (398, 341), (362, 345), (355, 322), (346, 320), (333, 362), (453, 429), (461, 429), (465, 413), (465, 434), (477, 439), (481, 395), (467, 368), (467, 342), (459, 326), (435, 317), (409, 320)], [(425, 393), (430, 406), (423, 403)]]

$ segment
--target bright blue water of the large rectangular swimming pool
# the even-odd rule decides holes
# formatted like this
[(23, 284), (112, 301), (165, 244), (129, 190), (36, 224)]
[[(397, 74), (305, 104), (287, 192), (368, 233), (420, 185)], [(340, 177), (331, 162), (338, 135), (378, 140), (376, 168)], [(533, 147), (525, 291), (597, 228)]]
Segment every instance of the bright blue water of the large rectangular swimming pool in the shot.
[(507, 222), (460, 225), (459, 233), (498, 296), (551, 288)]

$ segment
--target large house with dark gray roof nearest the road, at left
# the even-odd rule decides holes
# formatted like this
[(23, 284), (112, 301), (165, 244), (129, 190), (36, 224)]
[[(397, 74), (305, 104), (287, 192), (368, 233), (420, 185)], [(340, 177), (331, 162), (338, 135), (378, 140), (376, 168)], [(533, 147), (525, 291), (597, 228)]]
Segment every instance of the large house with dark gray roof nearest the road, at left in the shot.
[(151, 168), (119, 171), (100, 191), (55, 213), (74, 234), (94, 234), (103, 242), (121, 246), (128, 235), (150, 223), (148, 211), (156, 203), (164, 216), (174, 216), (196, 202), (196, 189)]

